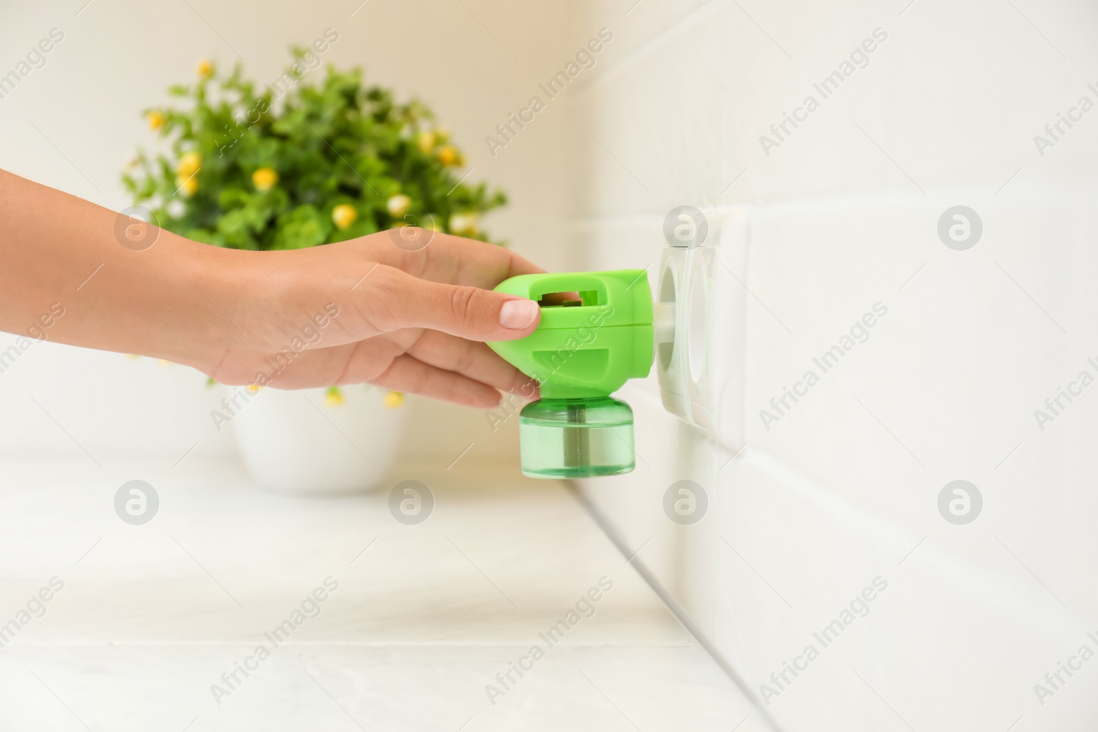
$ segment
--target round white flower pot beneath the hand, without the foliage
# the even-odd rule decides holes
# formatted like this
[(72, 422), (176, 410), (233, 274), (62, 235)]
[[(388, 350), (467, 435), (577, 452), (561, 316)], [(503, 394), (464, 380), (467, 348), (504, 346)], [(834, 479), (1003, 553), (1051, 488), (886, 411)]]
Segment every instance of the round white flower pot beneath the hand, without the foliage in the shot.
[(385, 391), (373, 386), (340, 392), (338, 406), (325, 404), (323, 388), (262, 388), (243, 404), (233, 431), (259, 485), (278, 493), (332, 494), (382, 484), (408, 409), (385, 407)]

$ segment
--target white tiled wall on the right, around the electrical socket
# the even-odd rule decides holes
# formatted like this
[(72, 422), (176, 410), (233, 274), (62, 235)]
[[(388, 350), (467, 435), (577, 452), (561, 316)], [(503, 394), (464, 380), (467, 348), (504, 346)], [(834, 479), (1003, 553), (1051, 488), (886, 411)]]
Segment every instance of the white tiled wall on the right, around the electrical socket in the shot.
[[(1061, 672), (1058, 690), (1044, 679), (1082, 645), (1098, 652), (1098, 391), (1043, 431), (1033, 416), (1079, 371), (1098, 375), (1098, 112), (1044, 156), (1033, 142), (1080, 95), (1098, 102), (1096, 15), (1083, 2), (645, 0), (593, 3), (580, 21), (615, 32), (571, 110), (590, 131), (578, 126), (582, 264), (649, 266), (654, 284), (660, 224), (681, 204), (743, 207), (750, 230), (747, 264), (730, 264), (750, 289), (746, 335), (744, 313), (714, 314), (746, 363), (731, 385), (746, 406), (721, 415), (742, 419), (742, 439), (668, 415), (653, 374), (621, 393), (636, 472), (583, 491), (782, 729), (1098, 718), (1098, 663)], [(867, 65), (765, 155), (760, 135), (820, 101), (813, 83), (875, 29), (887, 38)], [(984, 225), (966, 251), (937, 234), (959, 204)], [(876, 303), (887, 314), (821, 373), (814, 357)], [(819, 383), (766, 429), (760, 410), (808, 369)], [(661, 507), (683, 478), (710, 502), (693, 527)], [(957, 478), (984, 498), (966, 526), (937, 507)], [(824, 647), (814, 631), (876, 577), (887, 588)], [(774, 684), (808, 644), (819, 657)], [(1039, 699), (1035, 684), (1055, 692)]]

